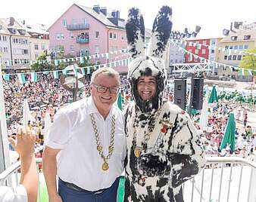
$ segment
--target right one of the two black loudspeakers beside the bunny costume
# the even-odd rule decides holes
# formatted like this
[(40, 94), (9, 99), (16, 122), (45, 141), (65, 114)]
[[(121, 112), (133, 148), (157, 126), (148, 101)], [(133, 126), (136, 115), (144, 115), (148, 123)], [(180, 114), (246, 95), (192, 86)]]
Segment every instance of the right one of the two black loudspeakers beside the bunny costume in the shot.
[(192, 109), (202, 109), (203, 107), (203, 90), (204, 90), (204, 78), (193, 78), (192, 81), (193, 97), (192, 97)]

